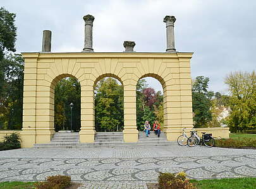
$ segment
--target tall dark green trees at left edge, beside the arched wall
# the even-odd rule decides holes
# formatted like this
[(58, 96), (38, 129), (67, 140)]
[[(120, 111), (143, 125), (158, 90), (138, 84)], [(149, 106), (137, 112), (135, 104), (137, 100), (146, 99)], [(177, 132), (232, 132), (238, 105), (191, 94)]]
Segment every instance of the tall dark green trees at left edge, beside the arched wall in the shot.
[[(3, 127), (3, 129), (19, 129), (22, 123), (23, 93), (19, 90), (23, 86), (23, 70), (22, 76), (20, 72), (15, 72), (21, 58), (18, 60), (18, 55), (9, 53), (15, 52), (16, 27), (14, 22), (15, 14), (0, 8), (0, 128)], [(11, 66), (14, 66), (13, 72), (10, 69)], [(6, 78), (7, 75), (14, 76), (14, 79)], [(20, 82), (22, 84), (19, 84)]]

